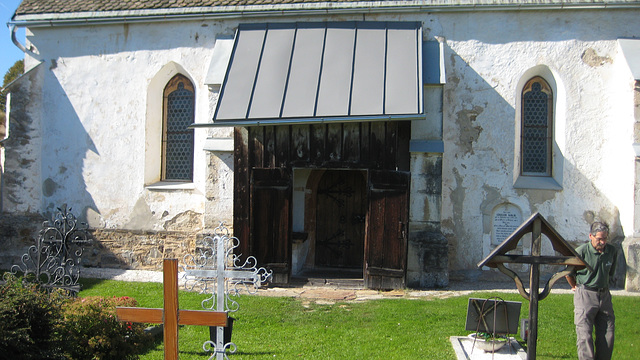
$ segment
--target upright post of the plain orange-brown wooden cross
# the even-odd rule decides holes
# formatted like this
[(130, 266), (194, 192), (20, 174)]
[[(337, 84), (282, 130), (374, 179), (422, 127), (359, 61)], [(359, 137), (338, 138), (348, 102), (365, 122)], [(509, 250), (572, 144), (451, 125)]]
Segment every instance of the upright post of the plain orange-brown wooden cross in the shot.
[(164, 281), (164, 359), (178, 360), (178, 259), (165, 259)]

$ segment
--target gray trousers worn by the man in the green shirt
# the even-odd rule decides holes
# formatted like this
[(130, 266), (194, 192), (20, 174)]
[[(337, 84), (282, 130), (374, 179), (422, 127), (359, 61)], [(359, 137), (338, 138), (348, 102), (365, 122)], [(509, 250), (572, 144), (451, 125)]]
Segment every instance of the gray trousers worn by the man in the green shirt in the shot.
[[(578, 285), (573, 296), (574, 323), (578, 335), (580, 360), (609, 360), (613, 353), (616, 317), (613, 314), (611, 293), (591, 291)], [(595, 351), (592, 332), (595, 326)]]

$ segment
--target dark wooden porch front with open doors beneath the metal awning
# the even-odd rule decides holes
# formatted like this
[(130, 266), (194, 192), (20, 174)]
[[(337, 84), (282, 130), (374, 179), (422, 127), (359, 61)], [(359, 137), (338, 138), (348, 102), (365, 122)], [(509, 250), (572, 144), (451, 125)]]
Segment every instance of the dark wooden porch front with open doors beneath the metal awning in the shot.
[[(315, 264), (361, 267), (365, 286), (405, 287), (409, 122), (236, 128), (234, 234), (287, 283), (292, 264), (293, 168), (324, 170)], [(347, 201), (348, 200), (348, 201)]]

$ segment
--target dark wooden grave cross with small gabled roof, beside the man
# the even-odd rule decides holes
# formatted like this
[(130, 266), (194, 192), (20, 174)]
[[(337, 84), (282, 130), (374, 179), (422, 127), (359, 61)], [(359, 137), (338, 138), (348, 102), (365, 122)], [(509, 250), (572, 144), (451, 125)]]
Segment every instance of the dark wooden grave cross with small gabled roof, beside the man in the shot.
[[(514, 250), (525, 234), (531, 233), (531, 255), (507, 254)], [(553, 249), (561, 256), (543, 256), (541, 254), (542, 234), (551, 241)], [(526, 291), (522, 280), (514, 271), (504, 266), (506, 263), (529, 264), (529, 292)], [(566, 267), (555, 273), (540, 292), (540, 265), (565, 265)], [(575, 250), (558, 234), (542, 215), (535, 213), (529, 217), (513, 234), (496, 247), (478, 267), (489, 266), (498, 268), (502, 273), (512, 278), (520, 295), (529, 300), (529, 337), (527, 338), (527, 359), (535, 360), (538, 342), (538, 301), (546, 298), (551, 288), (560, 278), (570, 274), (573, 269), (591, 267), (584, 262)]]

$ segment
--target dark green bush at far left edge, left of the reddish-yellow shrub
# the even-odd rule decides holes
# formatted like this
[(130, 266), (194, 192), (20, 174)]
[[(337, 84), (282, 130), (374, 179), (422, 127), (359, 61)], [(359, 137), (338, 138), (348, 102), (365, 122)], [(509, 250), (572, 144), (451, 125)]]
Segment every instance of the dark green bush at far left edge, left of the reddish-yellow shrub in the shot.
[(60, 359), (62, 298), (14, 276), (0, 286), (0, 358)]

